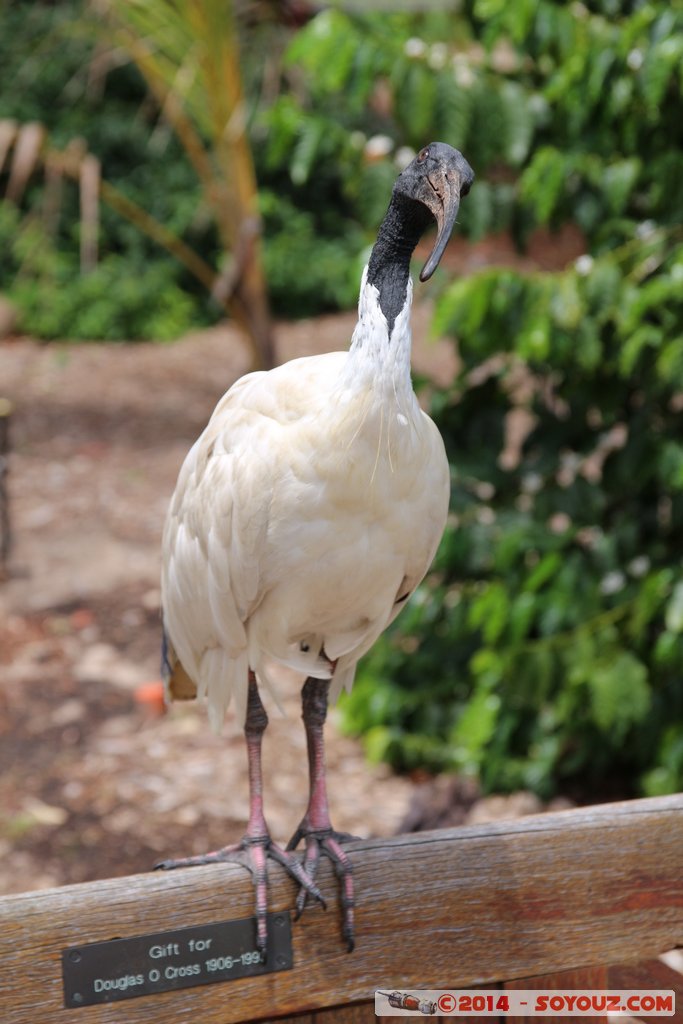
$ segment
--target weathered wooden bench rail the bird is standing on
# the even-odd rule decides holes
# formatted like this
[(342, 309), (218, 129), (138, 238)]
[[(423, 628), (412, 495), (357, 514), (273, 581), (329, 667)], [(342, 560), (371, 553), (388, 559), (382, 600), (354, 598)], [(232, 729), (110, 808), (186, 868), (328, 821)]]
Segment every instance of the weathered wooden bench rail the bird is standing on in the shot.
[[(464, 988), (638, 961), (683, 945), (683, 796), (423, 833), (350, 848), (357, 944), (329, 908), (293, 924), (294, 969), (62, 1009), (65, 946), (249, 918), (234, 865), (146, 873), (0, 900), (0, 1019), (12, 1024), (230, 1024), (369, 1000), (377, 988)], [(295, 887), (270, 869), (270, 905)]]

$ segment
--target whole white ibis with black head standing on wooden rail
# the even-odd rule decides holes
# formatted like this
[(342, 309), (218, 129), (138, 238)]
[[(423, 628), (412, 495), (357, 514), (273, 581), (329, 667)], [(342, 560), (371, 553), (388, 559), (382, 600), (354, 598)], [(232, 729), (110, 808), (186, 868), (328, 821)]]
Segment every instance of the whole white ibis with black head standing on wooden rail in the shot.
[[(245, 721), (250, 815), (242, 843), (158, 866), (238, 860), (254, 876), (257, 944), (266, 948), (266, 857), (315, 885), (321, 854), (341, 883), (353, 948), (353, 882), (330, 821), (323, 725), (358, 658), (403, 606), (441, 538), (450, 473), (438, 430), (411, 381), (410, 260), (432, 218), (426, 281), (443, 253), (473, 172), (441, 142), (398, 176), (360, 285), (347, 352), (293, 359), (239, 380), (187, 455), (163, 540), (163, 616), (171, 697), (206, 699), (220, 728), (231, 699)], [(287, 851), (263, 814), (258, 686), (272, 664), (306, 677), (306, 813)], [(304, 839), (303, 863), (291, 853)]]

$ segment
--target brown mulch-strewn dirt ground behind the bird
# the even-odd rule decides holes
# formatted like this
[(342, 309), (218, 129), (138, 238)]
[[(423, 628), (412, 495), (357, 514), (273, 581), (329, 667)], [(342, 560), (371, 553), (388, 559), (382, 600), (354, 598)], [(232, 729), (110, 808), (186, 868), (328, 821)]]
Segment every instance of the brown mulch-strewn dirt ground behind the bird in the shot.
[[(575, 234), (553, 246), (557, 265), (581, 252)], [(531, 256), (536, 265), (548, 265), (548, 251)], [(452, 256), (460, 265), (463, 252)], [(485, 247), (467, 253), (469, 266), (492, 261)], [(509, 247), (503, 258), (516, 259)], [(428, 317), (428, 304), (416, 303), (414, 366), (444, 382), (456, 355), (449, 342), (421, 340)], [(281, 325), (279, 358), (345, 348), (354, 323), (348, 313)], [(14, 548), (0, 583), (0, 893), (145, 870), (242, 835), (247, 780), (234, 722), (215, 736), (202, 709), (162, 714), (140, 696), (159, 678), (159, 548), (176, 474), (248, 369), (229, 326), (173, 345), (0, 342), (0, 397), (15, 407)], [(283, 697), (287, 715), (269, 709), (264, 754), (279, 840), (306, 795), (291, 680)], [(328, 762), (338, 828), (385, 836), (409, 811), (414, 821), (416, 783), (368, 765), (334, 711)], [(480, 804), (467, 810), (474, 802), (462, 801), (461, 818), (481, 816)], [(535, 809), (524, 795), (489, 808)]]

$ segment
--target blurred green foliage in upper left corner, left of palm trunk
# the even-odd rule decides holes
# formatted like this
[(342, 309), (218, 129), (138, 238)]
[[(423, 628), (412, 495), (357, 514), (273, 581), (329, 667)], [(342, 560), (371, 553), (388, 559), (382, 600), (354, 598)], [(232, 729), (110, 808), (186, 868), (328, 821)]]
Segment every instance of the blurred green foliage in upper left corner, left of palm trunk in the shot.
[[(91, 65), (93, 45), (78, 0), (2, 8), (0, 118), (41, 121), (57, 147), (82, 138), (125, 196), (171, 231), (215, 248), (199, 215), (191, 169), (173, 136), (156, 126), (141, 78), (125, 65), (100, 81)], [(78, 186), (62, 181), (58, 216), (49, 228), (44, 206), (38, 175), (20, 209), (0, 202), (0, 290), (15, 301), (23, 331), (41, 338), (167, 340), (217, 315), (175, 260), (105, 206), (103, 255), (95, 271), (82, 275)]]

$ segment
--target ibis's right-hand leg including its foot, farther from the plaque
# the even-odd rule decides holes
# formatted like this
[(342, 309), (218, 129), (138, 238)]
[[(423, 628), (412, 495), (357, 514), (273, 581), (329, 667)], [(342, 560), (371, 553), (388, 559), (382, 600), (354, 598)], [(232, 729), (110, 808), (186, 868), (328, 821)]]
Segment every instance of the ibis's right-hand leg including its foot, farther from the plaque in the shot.
[[(328, 715), (329, 679), (312, 679), (308, 677), (301, 691), (302, 718), (306, 730), (306, 745), (308, 748), (309, 796), (306, 813), (294, 836), (287, 844), (288, 850), (294, 850), (302, 839), (306, 841), (304, 868), (311, 881), (324, 853), (332, 861), (341, 888), (341, 904), (343, 909), (342, 934), (346, 939), (349, 952), (354, 945), (353, 930), (353, 868), (348, 855), (341, 844), (354, 837), (346, 833), (338, 833), (332, 827), (330, 809), (328, 806), (328, 788), (325, 775), (325, 742), (323, 729)], [(307, 892), (302, 887), (297, 897), (297, 916), (306, 905)]]

